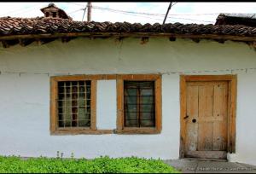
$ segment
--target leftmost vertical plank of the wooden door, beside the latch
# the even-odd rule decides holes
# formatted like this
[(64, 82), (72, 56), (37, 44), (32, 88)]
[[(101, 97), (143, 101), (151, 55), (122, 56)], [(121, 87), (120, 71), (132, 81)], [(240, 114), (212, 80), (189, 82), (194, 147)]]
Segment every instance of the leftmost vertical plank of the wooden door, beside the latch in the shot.
[(187, 125), (185, 151), (196, 151), (198, 122), (193, 123), (192, 119), (198, 120), (198, 86), (187, 85), (187, 114), (185, 118)]

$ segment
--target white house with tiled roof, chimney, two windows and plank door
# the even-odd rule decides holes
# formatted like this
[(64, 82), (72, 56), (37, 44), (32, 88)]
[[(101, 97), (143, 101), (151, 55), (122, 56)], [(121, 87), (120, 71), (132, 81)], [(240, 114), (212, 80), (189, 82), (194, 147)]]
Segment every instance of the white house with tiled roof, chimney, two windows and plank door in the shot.
[(1, 155), (256, 165), (255, 27), (42, 11), (0, 19)]

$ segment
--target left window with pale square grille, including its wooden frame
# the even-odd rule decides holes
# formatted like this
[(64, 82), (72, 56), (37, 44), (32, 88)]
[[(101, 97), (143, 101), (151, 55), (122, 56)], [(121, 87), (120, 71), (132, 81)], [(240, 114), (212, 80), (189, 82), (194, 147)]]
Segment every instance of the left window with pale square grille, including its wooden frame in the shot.
[(96, 80), (101, 75), (50, 78), (50, 133), (108, 134), (96, 129)]

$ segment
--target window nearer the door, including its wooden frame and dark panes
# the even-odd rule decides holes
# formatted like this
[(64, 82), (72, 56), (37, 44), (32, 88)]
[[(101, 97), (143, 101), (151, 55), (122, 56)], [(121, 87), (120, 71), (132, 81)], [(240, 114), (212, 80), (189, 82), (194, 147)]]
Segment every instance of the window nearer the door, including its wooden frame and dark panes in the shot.
[(117, 133), (160, 133), (160, 75), (118, 75)]

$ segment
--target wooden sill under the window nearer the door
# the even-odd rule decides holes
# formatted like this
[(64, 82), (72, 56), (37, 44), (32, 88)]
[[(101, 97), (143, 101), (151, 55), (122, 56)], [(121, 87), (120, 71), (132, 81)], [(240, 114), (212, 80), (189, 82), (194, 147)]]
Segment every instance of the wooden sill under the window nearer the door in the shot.
[(160, 134), (160, 130), (155, 128), (124, 128), (122, 130), (114, 130), (115, 134)]

